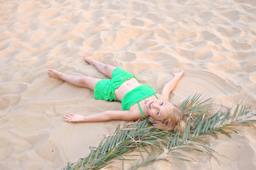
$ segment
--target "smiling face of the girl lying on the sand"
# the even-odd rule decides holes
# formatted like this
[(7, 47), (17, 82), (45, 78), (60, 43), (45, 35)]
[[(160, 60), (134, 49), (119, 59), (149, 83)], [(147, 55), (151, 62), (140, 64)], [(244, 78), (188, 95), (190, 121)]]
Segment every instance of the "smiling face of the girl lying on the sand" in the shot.
[(146, 109), (149, 115), (155, 120), (164, 120), (173, 107), (174, 105), (172, 103), (161, 99), (146, 103)]

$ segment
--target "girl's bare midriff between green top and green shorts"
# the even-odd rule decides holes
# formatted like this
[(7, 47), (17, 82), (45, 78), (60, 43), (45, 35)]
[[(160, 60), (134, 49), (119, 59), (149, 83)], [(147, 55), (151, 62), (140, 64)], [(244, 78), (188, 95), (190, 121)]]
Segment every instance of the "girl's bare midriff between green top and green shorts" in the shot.
[(129, 91), (131, 91), (132, 89), (140, 85), (142, 84), (139, 84), (137, 79), (132, 77), (132, 79), (124, 81), (124, 83), (121, 84), (121, 86), (119, 86), (119, 88), (117, 88), (114, 91), (114, 95), (116, 96), (117, 100), (122, 101), (122, 98), (124, 97), (125, 94), (127, 94)]

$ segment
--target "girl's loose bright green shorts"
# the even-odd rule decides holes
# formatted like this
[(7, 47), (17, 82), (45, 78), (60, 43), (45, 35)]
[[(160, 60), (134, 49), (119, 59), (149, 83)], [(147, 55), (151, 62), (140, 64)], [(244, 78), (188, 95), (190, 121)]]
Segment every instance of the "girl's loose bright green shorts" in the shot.
[[(112, 79), (102, 79), (97, 82), (94, 89), (95, 99), (105, 101), (118, 101), (114, 91), (134, 75), (119, 67), (112, 72)], [(136, 79), (136, 77), (134, 77)]]

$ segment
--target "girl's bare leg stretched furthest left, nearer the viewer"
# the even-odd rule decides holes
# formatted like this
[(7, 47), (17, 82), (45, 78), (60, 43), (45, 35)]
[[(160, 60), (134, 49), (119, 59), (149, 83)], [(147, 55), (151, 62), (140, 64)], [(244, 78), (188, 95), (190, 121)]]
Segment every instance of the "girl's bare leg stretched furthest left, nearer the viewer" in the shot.
[(49, 77), (54, 79), (61, 79), (61, 80), (67, 81), (68, 83), (74, 86), (86, 87), (92, 90), (95, 89), (95, 85), (97, 84), (97, 82), (101, 80), (101, 79), (95, 79), (92, 77), (78, 77), (78, 76), (67, 75), (67, 74), (58, 72), (55, 69), (48, 69), (48, 75)]

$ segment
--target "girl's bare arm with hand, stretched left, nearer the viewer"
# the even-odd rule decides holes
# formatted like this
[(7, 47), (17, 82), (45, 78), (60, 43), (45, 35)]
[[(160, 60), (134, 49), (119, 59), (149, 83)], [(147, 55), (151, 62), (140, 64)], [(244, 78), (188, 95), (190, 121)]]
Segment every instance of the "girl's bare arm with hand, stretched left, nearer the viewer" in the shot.
[(79, 115), (69, 113), (64, 116), (65, 121), (69, 123), (95, 123), (105, 122), (108, 120), (138, 120), (139, 114), (130, 111), (105, 111), (95, 115)]

